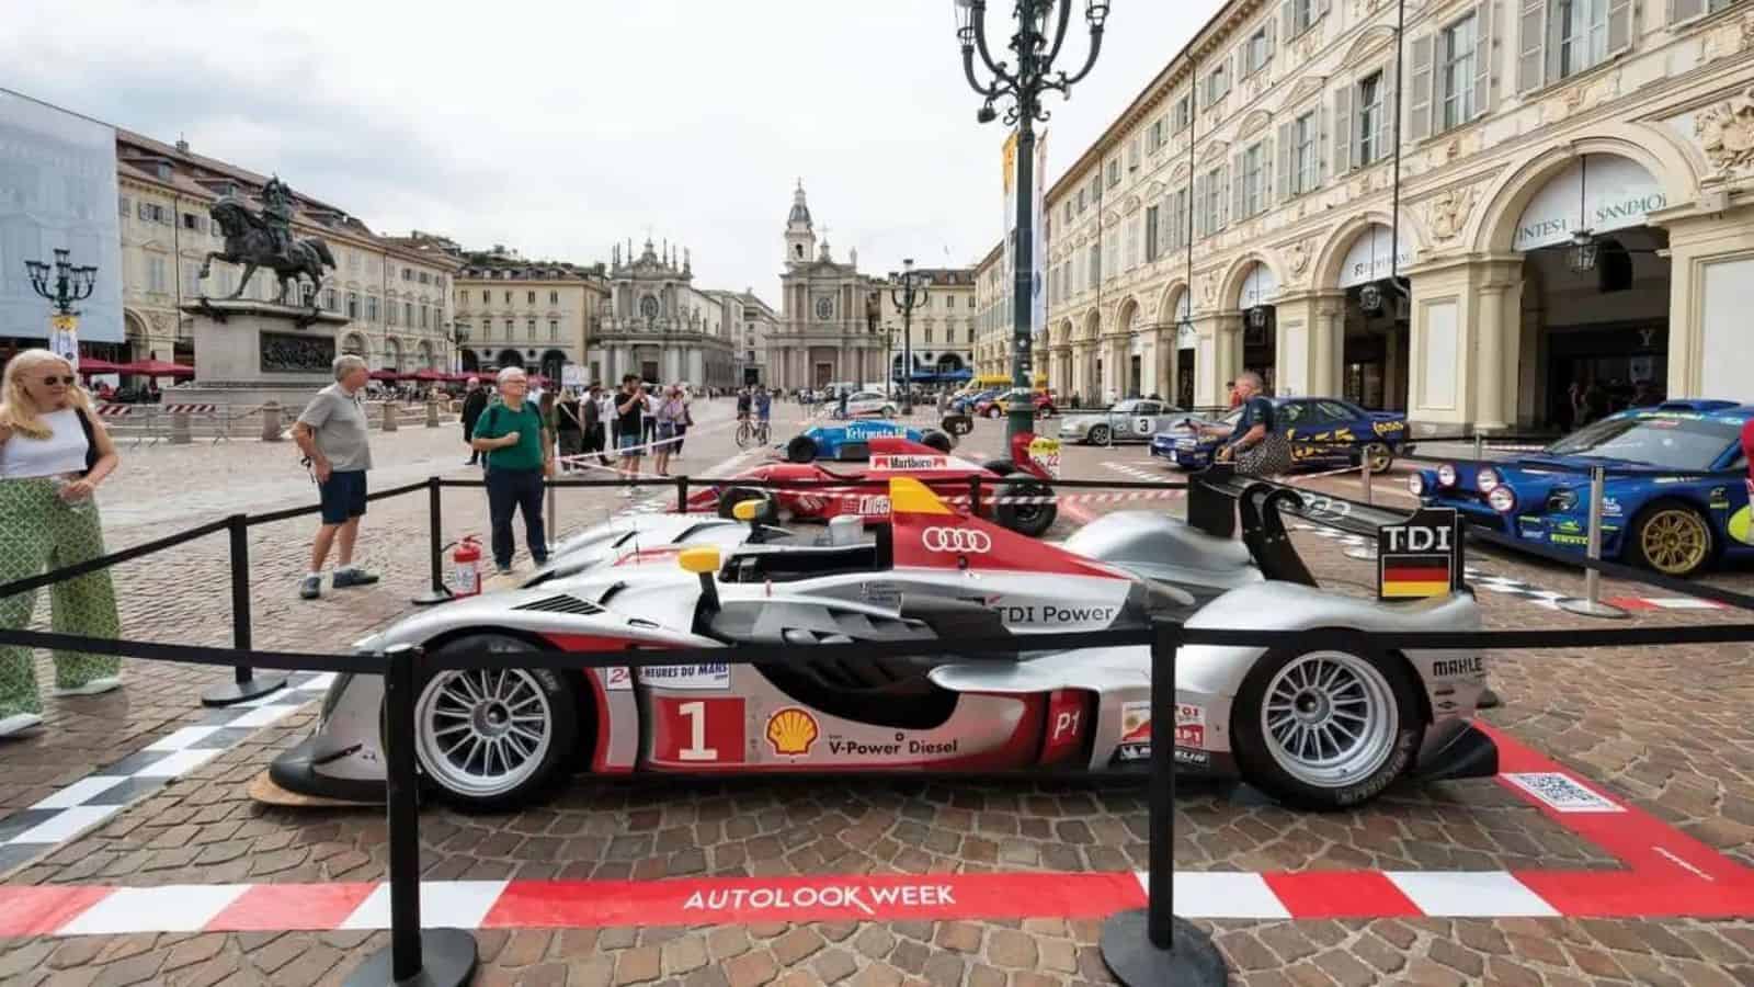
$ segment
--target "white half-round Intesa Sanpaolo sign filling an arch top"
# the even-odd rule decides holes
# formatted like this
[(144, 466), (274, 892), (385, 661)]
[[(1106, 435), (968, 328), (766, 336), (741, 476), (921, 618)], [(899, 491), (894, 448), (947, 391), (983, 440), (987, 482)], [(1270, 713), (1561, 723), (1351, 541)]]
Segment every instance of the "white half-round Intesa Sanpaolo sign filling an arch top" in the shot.
[(1570, 242), (1572, 234), (1607, 234), (1643, 227), (1668, 205), (1661, 186), (1638, 162), (1619, 155), (1584, 155), (1535, 193), (1517, 218), (1510, 246), (1531, 251)]

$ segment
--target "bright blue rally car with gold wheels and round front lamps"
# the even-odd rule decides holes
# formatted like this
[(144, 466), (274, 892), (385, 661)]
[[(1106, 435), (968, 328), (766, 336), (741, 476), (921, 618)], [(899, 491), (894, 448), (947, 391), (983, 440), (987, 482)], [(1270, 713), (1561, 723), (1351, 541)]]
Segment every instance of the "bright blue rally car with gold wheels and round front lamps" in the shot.
[(1733, 400), (1635, 407), (1538, 453), (1421, 471), (1408, 488), (1426, 506), (1456, 508), (1510, 537), (1582, 555), (1589, 474), (1575, 469), (1601, 465), (1601, 557), (1691, 576), (1719, 558), (1754, 553), (1740, 441), (1749, 418), (1754, 406)]

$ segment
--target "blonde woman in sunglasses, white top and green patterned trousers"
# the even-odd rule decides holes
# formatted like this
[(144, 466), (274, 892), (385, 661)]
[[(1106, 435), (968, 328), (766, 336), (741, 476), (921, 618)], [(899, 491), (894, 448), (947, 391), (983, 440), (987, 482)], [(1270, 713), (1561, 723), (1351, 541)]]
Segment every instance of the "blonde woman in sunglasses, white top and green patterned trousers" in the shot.
[[(116, 444), (91, 413), (67, 360), (26, 349), (0, 383), (0, 583), (26, 580), (103, 555), (93, 492), (116, 469)], [(109, 569), (54, 583), (54, 630), (116, 638)], [(0, 627), (30, 623), (35, 592), (0, 597)], [(121, 659), (54, 653), (56, 695), (96, 695), (121, 685)], [(30, 648), (0, 648), (0, 738), (42, 722)]]

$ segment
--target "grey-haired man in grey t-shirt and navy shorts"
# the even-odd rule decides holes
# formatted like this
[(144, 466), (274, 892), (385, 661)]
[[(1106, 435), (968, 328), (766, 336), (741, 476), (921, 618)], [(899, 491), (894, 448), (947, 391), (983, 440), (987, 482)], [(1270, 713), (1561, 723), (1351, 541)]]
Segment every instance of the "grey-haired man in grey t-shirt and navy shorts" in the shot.
[(365, 516), (365, 471), (372, 469), (368, 423), (360, 404), (367, 379), (365, 360), (351, 353), (335, 357), (335, 383), (319, 390), (293, 425), (293, 441), (310, 458), (323, 504), (323, 525), (310, 544), (310, 571), (298, 587), (303, 599), (323, 594), (323, 560), (330, 544), (339, 555), (335, 588), (377, 581), (375, 573), (353, 564), (353, 543)]

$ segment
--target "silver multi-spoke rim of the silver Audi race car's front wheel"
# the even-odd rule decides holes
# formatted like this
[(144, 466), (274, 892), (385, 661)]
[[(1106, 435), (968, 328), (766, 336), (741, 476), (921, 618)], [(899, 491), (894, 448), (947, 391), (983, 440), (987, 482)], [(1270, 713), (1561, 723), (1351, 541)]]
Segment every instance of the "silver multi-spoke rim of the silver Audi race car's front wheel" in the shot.
[(523, 669), (433, 678), (414, 710), (421, 767), (451, 792), (503, 796), (537, 771), (554, 741), (554, 710)]

